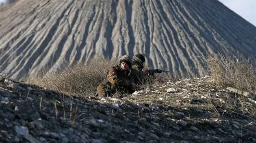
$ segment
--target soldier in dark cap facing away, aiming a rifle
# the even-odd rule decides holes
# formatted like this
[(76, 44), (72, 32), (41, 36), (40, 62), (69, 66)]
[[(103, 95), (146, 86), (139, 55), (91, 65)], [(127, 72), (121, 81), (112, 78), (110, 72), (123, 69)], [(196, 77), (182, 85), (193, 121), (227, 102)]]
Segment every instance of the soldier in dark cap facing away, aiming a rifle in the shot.
[(144, 68), (144, 62), (145, 57), (140, 53), (135, 55), (132, 59), (130, 77), (137, 84), (143, 84), (148, 80), (146, 78), (146, 76), (148, 76), (149, 74), (148, 71), (142, 71), (142, 69)]

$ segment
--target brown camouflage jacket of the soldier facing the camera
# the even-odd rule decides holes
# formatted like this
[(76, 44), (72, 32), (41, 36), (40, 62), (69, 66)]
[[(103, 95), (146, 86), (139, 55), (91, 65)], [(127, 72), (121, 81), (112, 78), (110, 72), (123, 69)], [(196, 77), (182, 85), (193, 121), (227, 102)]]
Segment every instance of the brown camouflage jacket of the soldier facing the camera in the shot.
[(106, 79), (98, 86), (96, 96), (99, 93), (108, 93), (108, 95), (116, 92), (132, 93), (132, 81), (128, 76), (129, 73), (129, 71), (122, 70), (119, 65), (111, 67), (108, 70)]

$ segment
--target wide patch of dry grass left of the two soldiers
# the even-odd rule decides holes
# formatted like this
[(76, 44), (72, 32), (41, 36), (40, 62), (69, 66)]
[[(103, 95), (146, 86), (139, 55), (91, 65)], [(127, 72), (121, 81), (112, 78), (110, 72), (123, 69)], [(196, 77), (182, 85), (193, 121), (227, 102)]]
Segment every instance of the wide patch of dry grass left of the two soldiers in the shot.
[(28, 84), (35, 84), (63, 93), (91, 96), (98, 85), (106, 78), (106, 73), (117, 60), (97, 59), (75, 65), (63, 66), (53, 73), (40, 72), (33, 78), (27, 78)]

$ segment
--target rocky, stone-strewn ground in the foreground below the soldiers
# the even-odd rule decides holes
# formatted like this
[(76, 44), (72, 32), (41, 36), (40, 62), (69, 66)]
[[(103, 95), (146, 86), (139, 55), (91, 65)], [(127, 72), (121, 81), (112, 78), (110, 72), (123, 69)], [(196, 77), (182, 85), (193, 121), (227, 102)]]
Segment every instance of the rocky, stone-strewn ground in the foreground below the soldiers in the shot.
[(210, 77), (102, 99), (1, 77), (0, 101), (0, 142), (256, 142), (255, 104)]

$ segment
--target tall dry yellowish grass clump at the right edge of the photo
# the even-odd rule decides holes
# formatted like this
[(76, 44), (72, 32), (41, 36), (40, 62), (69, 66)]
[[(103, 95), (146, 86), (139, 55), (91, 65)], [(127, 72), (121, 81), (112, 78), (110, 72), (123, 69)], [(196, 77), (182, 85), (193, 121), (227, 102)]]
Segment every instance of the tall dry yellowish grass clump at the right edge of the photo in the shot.
[(207, 54), (203, 57), (208, 72), (217, 86), (256, 93), (256, 61), (240, 54), (236, 57), (227, 53)]

